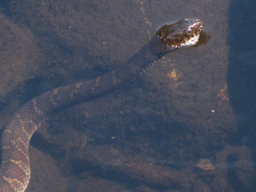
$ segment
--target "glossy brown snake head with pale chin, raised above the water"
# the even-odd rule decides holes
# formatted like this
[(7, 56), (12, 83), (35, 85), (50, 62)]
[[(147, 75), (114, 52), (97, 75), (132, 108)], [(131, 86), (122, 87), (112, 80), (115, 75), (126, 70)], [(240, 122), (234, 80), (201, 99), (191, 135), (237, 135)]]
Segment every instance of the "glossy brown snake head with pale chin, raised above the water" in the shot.
[(164, 25), (156, 35), (165, 45), (179, 48), (197, 44), (202, 29), (203, 22), (200, 19), (184, 18), (175, 24)]

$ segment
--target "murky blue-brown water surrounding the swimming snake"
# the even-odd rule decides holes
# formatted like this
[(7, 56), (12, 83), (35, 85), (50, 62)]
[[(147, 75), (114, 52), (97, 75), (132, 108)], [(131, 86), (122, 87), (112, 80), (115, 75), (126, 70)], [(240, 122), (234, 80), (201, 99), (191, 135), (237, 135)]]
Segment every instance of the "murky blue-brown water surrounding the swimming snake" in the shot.
[[(0, 53), (9, 63), (24, 58), (4, 73), (12, 83), (2, 78), (1, 127), (35, 95), (121, 65), (170, 20), (199, 17), (211, 35), (206, 45), (166, 55), (129, 86), (52, 115), (31, 141), (27, 191), (253, 190), (250, 1), (23, 1), (1, 8), (13, 34), (30, 39), (14, 41), (26, 57), (13, 45), (11, 55)], [(197, 167), (206, 158), (215, 169)]]

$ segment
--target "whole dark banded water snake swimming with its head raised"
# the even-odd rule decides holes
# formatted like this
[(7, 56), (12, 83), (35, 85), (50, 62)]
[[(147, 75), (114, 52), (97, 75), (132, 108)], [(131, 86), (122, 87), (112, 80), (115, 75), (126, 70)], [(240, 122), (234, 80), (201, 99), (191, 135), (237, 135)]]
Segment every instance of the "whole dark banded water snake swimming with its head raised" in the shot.
[(45, 92), (24, 104), (6, 125), (1, 140), (0, 191), (24, 192), (30, 180), (29, 142), (33, 133), (60, 108), (108, 93), (142, 74), (166, 53), (197, 44), (199, 18), (184, 18), (157, 30), (147, 44), (111, 72)]

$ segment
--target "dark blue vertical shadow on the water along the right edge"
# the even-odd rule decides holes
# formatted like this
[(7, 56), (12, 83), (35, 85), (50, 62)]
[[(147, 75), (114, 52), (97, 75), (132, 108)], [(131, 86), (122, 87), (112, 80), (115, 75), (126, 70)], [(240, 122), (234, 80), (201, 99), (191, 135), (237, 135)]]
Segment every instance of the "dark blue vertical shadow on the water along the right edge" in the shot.
[[(254, 0), (235, 0), (230, 4), (228, 24), (230, 54), (227, 77), (229, 98), (239, 126), (239, 132), (236, 138), (232, 138), (231, 143), (247, 145), (254, 162), (256, 160), (255, 8)], [(239, 189), (239, 186), (236, 187)]]

